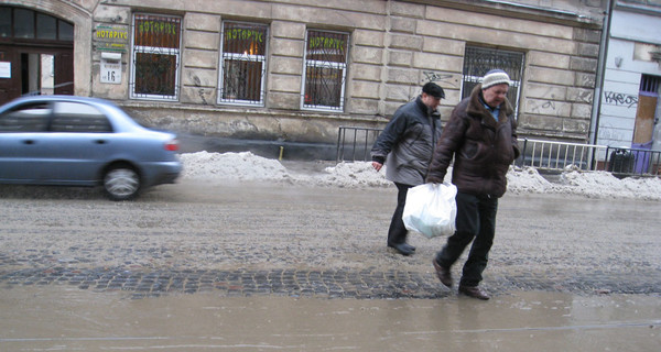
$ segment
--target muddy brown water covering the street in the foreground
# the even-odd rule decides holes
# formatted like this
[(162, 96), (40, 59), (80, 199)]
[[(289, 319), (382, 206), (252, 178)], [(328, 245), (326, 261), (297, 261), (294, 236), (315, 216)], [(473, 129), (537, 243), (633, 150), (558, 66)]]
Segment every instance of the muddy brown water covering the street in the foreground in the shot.
[(516, 293), (446, 299), (129, 299), (68, 286), (0, 295), (0, 351), (653, 351), (659, 297)]

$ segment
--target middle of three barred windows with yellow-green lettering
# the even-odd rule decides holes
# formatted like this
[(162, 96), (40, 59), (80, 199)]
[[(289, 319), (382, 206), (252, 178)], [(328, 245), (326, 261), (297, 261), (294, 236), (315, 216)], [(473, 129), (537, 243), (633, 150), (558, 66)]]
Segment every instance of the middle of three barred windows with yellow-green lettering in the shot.
[(219, 103), (264, 103), (268, 28), (263, 24), (223, 23)]

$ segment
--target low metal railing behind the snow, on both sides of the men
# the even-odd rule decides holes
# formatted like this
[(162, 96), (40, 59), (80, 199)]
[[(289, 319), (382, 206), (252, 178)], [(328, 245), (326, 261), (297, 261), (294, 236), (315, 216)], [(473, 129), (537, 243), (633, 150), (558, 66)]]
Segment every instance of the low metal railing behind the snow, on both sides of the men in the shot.
[[(340, 127), (336, 162), (368, 162), (370, 150), (382, 129)], [(567, 167), (582, 170), (607, 170), (617, 177), (660, 176), (661, 151), (613, 147), (597, 144), (566, 143), (523, 139), (517, 166), (562, 172)]]

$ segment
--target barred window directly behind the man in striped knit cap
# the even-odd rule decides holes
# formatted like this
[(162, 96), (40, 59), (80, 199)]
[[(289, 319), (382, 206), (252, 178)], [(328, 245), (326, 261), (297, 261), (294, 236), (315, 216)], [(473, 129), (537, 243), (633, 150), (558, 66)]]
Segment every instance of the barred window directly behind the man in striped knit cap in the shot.
[(481, 82), (481, 78), (489, 70), (502, 69), (512, 81), (507, 99), (514, 108), (514, 117), (518, 117), (524, 58), (523, 53), (467, 45), (464, 54), (462, 98), (469, 97), (473, 88)]

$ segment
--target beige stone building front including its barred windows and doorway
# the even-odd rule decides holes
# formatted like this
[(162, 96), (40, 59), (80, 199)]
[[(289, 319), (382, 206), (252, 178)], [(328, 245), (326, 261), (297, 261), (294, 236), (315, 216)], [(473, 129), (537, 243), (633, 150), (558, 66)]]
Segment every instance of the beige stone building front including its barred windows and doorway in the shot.
[(522, 136), (585, 143), (608, 3), (0, 0), (0, 100), (93, 96), (175, 132), (335, 143), (426, 81), (447, 118), (503, 68)]

